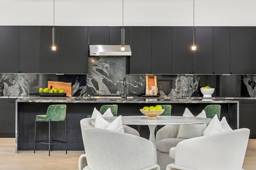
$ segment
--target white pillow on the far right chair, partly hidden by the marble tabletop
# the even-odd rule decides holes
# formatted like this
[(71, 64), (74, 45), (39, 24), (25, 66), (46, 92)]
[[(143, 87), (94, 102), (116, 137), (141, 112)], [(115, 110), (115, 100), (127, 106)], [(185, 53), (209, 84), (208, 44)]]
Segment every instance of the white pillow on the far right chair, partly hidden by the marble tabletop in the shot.
[[(194, 117), (194, 115), (190, 112), (188, 108), (185, 109), (182, 116)], [(206, 118), (206, 113), (202, 110), (196, 117), (204, 117)], [(203, 135), (204, 129), (206, 128), (206, 123), (204, 124), (192, 124), (192, 125), (180, 125), (179, 132), (177, 138), (192, 138), (192, 137), (200, 137)]]

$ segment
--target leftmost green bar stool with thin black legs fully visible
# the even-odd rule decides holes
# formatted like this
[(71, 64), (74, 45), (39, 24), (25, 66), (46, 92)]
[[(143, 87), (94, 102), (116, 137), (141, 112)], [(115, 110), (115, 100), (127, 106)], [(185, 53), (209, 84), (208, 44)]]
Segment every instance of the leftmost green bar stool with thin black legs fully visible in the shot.
[[(35, 136), (34, 136), (34, 153), (36, 150), (36, 143), (42, 143), (49, 146), (49, 156), (50, 150), (52, 150), (53, 144), (66, 144), (66, 154), (67, 154), (67, 131), (66, 131), (66, 109), (65, 104), (50, 105), (46, 111), (46, 115), (36, 115), (35, 119)], [(48, 140), (36, 141), (36, 122), (48, 122), (49, 123), (49, 138)], [(52, 122), (65, 122), (65, 141), (52, 140)]]

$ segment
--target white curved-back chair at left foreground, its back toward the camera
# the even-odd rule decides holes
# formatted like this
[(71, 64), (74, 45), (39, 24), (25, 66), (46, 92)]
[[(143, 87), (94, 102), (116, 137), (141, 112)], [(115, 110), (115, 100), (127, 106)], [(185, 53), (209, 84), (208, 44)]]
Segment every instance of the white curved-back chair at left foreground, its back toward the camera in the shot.
[(79, 170), (160, 170), (148, 139), (92, 127), (82, 129), (82, 137), (86, 153)]

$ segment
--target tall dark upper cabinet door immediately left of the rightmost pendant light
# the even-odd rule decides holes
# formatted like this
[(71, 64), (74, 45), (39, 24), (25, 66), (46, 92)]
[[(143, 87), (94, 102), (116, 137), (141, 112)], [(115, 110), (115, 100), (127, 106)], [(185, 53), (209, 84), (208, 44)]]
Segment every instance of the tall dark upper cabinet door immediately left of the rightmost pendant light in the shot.
[(192, 27), (172, 27), (172, 74), (192, 73)]

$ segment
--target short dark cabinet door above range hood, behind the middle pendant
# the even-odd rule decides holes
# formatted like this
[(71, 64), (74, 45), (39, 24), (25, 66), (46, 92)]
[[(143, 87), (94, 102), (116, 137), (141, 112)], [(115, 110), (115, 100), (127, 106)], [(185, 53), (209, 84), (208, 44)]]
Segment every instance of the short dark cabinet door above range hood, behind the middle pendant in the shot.
[[(109, 44), (121, 45), (122, 27), (109, 27)], [(130, 27), (124, 27), (124, 43), (130, 45)]]

